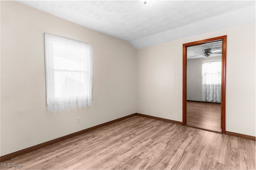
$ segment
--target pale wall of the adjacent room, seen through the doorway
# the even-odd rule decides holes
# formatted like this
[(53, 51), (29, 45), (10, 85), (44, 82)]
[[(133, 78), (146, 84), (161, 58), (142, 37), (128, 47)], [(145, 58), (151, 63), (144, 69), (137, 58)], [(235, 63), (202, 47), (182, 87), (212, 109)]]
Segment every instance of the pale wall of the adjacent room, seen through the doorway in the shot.
[[(204, 62), (221, 61), (221, 56), (204, 58)], [(187, 100), (202, 99), (202, 62), (203, 58), (187, 60)]]

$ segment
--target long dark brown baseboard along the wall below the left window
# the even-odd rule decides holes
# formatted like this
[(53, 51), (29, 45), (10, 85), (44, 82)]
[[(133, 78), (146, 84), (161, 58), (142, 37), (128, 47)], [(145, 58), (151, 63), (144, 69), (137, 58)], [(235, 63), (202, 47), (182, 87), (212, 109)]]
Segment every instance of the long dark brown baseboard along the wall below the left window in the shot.
[(119, 118), (119, 119), (115, 119), (115, 120), (113, 120), (113, 121), (109, 121), (109, 122), (106, 122), (106, 123), (102, 123), (102, 124), (96, 125), (96, 126), (94, 126), (94, 127), (86, 128), (86, 129), (84, 129), (84, 130), (80, 130), (80, 131), (78, 131), (78, 132), (74, 132), (74, 133), (72, 133), (72, 134), (68, 134), (68, 135), (66, 135), (66, 136), (62, 136), (62, 137), (60, 137), (60, 138), (56, 138), (56, 139), (53, 139), (53, 140), (50, 140), (50, 141), (47, 141), (47, 142), (44, 142), (44, 143), (41, 143), (41, 144), (37, 144), (37, 145), (31, 146), (31, 147), (29, 147), (29, 148), (25, 148), (25, 149), (22, 149), (22, 150), (18, 150), (18, 151), (16, 151), (16, 152), (13, 152), (13, 153), (10, 153), (10, 154), (1, 156), (1, 157), (0, 157), (0, 161), (3, 162), (3, 161), (6, 161), (6, 160), (10, 160), (10, 159), (15, 158), (15, 157), (17, 157), (17, 156), (20, 156), (20, 155), (23, 155), (23, 154), (32, 152), (32, 151), (34, 151), (34, 150), (38, 150), (38, 149), (40, 149), (40, 148), (44, 148), (44, 147), (49, 146), (49, 145), (51, 145), (51, 144), (55, 144), (55, 143), (60, 142), (60, 141), (62, 141), (62, 140), (66, 140), (66, 139), (68, 139), (68, 138), (72, 138), (72, 137), (74, 137), (74, 136), (77, 136), (77, 135), (79, 135), (79, 134), (83, 134), (83, 133), (85, 133), (85, 132), (89, 132), (89, 131), (91, 131), (91, 130), (95, 130), (95, 129), (97, 129), (97, 128), (104, 127), (104, 126), (106, 126), (106, 125), (110, 125), (110, 124), (112, 124), (112, 123), (116, 123), (116, 122), (118, 122), (118, 121), (122, 121), (122, 120), (127, 119), (127, 118), (129, 118), (129, 117), (132, 117), (132, 116), (134, 116), (134, 115), (136, 115), (136, 113), (134, 113), (134, 114), (132, 114), (132, 115), (125, 116), (125, 117), (121, 117), (121, 118)]

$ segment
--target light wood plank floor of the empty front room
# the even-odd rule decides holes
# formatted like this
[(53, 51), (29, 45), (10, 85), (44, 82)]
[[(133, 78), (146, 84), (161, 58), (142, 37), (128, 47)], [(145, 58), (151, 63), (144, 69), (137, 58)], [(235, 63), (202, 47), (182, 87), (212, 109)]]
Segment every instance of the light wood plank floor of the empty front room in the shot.
[(19, 169), (255, 169), (255, 141), (133, 116), (3, 163), (22, 164)]

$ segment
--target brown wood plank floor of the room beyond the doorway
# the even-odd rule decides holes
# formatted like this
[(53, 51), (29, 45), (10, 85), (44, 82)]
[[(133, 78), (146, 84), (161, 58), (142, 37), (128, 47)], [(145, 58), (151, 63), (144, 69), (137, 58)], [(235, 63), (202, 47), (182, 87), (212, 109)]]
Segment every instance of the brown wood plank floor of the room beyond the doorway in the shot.
[(221, 132), (219, 103), (187, 101), (187, 125)]

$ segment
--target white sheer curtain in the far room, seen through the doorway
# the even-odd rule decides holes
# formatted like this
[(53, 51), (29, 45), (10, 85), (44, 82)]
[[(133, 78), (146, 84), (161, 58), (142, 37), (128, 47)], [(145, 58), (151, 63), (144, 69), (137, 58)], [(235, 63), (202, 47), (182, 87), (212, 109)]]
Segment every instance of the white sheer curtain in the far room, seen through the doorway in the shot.
[(221, 102), (221, 61), (202, 63), (202, 99)]

